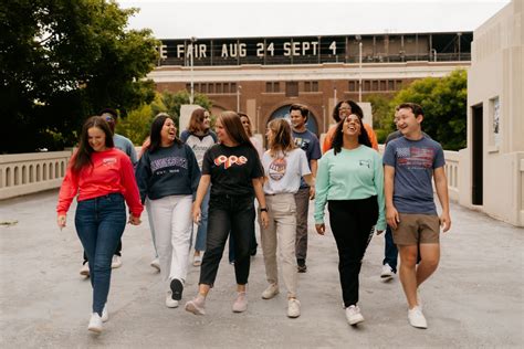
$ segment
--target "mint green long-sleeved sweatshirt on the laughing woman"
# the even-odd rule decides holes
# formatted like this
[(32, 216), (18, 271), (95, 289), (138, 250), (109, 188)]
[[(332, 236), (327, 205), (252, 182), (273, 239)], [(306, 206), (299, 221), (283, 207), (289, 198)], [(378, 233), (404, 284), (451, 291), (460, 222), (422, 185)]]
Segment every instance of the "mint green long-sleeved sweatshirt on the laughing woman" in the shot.
[(386, 230), (384, 169), (380, 155), (366, 146), (327, 151), (318, 160), (315, 181), (315, 223), (324, 223), (327, 200), (358, 200), (377, 195), (377, 230)]

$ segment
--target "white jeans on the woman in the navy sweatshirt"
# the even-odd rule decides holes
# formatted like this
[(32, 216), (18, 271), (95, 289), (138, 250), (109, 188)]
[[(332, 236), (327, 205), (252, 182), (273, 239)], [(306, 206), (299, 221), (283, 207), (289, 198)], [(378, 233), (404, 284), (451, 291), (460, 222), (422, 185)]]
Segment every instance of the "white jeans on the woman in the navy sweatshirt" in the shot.
[(170, 279), (186, 281), (191, 246), (191, 195), (150, 200), (160, 275), (167, 289)]

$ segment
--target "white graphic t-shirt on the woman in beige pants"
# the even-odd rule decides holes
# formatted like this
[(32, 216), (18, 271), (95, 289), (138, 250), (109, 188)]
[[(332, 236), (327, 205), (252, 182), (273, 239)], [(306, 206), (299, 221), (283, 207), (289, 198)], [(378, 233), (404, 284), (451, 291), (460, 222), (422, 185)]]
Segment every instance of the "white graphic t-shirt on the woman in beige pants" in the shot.
[(307, 157), (301, 148), (287, 151), (285, 157), (280, 152), (276, 158), (272, 158), (268, 150), (262, 156), (262, 166), (268, 177), (264, 183), (266, 194), (295, 193), (302, 176), (311, 173)]

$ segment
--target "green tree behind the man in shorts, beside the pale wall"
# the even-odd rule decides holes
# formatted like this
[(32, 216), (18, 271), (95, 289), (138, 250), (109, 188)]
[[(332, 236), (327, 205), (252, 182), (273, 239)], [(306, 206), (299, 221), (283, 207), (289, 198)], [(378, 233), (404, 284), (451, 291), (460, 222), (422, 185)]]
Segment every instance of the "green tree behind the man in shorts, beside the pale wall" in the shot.
[(442, 78), (426, 77), (399, 91), (390, 104), (412, 102), (425, 112), (423, 130), (447, 150), (467, 146), (468, 75), (464, 70), (453, 71)]

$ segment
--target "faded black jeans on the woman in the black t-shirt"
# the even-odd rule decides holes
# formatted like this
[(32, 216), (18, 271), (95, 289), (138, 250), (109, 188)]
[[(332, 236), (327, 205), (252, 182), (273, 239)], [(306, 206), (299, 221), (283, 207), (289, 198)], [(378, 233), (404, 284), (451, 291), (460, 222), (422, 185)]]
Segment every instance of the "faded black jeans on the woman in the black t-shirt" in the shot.
[(250, 243), (254, 234), (254, 198), (252, 195), (211, 195), (209, 200), (206, 253), (200, 266), (200, 284), (212, 285), (217, 277), (226, 241), (234, 237), (234, 275), (237, 284), (248, 283)]

